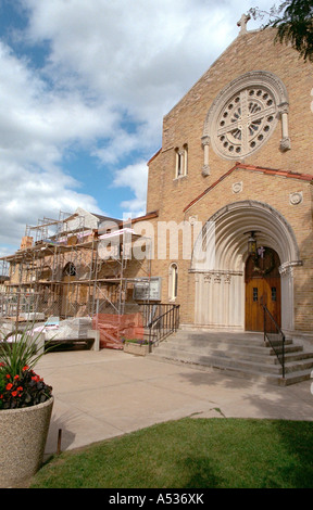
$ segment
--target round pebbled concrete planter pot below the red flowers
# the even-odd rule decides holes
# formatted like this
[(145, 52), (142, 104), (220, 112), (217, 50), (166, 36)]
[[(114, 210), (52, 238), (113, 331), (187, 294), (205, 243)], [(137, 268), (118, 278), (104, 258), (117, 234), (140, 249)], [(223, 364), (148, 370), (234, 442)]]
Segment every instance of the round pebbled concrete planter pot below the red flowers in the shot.
[(22, 409), (0, 410), (0, 487), (16, 487), (41, 467), (53, 397)]

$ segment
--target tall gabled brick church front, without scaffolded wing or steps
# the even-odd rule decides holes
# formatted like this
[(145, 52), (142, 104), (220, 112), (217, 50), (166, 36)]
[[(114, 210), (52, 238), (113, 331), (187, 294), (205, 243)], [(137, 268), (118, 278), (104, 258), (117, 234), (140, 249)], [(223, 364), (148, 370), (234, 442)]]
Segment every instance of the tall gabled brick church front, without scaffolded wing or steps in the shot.
[(152, 276), (183, 328), (262, 331), (265, 305), (286, 336), (313, 342), (313, 66), (275, 43), (275, 29), (238, 25), (163, 119), (147, 211), (155, 230), (202, 227), (190, 256), (180, 242), (160, 257), (155, 238)]

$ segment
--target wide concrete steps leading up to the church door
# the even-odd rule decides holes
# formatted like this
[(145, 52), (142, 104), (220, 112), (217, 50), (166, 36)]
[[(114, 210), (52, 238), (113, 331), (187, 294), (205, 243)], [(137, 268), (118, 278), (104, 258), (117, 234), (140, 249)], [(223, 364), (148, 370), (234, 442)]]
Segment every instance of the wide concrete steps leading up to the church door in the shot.
[(286, 340), (283, 378), (277, 356), (271, 345), (264, 343), (262, 333), (179, 330), (154, 347), (150, 356), (278, 385), (310, 379), (313, 370), (313, 352), (306, 353), (302, 346), (295, 345), (292, 340)]

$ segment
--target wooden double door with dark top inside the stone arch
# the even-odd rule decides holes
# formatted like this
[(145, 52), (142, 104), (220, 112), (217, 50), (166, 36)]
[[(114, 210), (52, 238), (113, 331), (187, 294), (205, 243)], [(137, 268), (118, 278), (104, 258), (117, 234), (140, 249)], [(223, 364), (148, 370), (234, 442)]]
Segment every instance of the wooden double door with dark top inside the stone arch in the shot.
[(277, 324), (281, 326), (280, 260), (270, 247), (260, 247), (258, 256), (246, 264), (246, 330), (263, 331), (263, 308), (266, 305)]

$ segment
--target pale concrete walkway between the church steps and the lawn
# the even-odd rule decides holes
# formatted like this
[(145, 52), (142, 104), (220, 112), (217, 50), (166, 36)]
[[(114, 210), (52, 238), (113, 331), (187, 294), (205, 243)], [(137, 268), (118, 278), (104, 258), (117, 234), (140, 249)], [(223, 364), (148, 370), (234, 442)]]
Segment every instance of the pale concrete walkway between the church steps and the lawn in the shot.
[(183, 417), (313, 420), (313, 381), (280, 387), (103, 349), (49, 353), (35, 371), (55, 398), (54, 454)]

